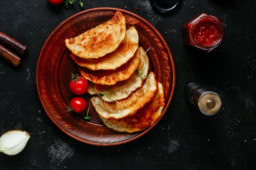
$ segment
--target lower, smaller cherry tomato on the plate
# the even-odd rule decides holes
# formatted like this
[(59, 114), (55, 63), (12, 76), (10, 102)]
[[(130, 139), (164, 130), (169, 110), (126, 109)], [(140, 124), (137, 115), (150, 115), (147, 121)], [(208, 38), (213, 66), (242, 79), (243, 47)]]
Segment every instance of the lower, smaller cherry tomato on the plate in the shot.
[(76, 113), (81, 113), (86, 108), (86, 101), (83, 97), (74, 97), (70, 101), (70, 106), (68, 107), (69, 110), (67, 111), (74, 111)]

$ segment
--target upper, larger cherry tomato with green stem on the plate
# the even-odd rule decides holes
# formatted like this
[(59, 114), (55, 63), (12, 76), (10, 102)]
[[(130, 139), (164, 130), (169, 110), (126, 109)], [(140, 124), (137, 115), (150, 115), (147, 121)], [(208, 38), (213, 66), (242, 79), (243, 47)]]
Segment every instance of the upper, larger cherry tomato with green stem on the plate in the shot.
[(70, 80), (70, 90), (76, 95), (83, 95), (88, 89), (88, 81), (83, 76), (72, 74), (72, 80)]

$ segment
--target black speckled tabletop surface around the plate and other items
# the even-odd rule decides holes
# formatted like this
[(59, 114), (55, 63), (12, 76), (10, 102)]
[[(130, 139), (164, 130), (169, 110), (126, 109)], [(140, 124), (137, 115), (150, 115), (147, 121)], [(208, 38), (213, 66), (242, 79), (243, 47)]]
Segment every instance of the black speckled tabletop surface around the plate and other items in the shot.
[[(169, 15), (156, 13), (149, 0), (83, 0), (83, 8), (78, 2), (68, 9), (47, 0), (0, 2), (0, 31), (29, 48), (18, 68), (0, 59), (0, 135), (12, 129), (31, 133), (18, 155), (0, 153), (0, 170), (256, 169), (256, 0), (182, 0)], [(36, 64), (47, 37), (71, 15), (94, 7), (145, 18), (163, 35), (175, 61), (167, 113), (146, 135), (119, 146), (91, 146), (67, 136), (46, 115), (36, 90)], [(182, 24), (202, 12), (225, 26), (225, 40), (210, 53), (182, 42)], [(220, 95), (219, 113), (203, 115), (184, 98), (192, 81)]]

